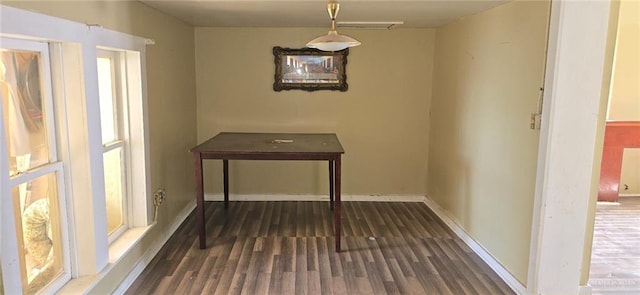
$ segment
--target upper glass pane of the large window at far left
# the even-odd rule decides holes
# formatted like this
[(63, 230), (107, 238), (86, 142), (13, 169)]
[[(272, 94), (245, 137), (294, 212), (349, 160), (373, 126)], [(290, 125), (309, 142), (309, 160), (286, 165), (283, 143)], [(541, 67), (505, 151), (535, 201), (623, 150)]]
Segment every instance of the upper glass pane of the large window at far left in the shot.
[(9, 148), (9, 174), (46, 164), (49, 146), (40, 89), (40, 53), (0, 50), (0, 90)]

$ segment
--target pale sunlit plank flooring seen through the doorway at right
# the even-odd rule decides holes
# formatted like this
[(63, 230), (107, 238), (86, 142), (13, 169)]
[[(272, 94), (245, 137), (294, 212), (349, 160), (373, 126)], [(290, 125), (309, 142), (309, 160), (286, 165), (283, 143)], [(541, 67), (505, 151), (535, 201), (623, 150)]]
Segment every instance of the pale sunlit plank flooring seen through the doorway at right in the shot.
[(640, 197), (597, 205), (589, 285), (593, 294), (640, 294)]

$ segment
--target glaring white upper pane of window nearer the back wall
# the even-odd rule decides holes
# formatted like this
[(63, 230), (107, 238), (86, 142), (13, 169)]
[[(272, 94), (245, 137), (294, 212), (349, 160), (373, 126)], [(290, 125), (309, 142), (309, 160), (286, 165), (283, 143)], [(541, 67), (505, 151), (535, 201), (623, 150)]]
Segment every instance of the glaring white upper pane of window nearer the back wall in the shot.
[(102, 143), (117, 139), (116, 108), (113, 96), (113, 66), (110, 58), (98, 58), (98, 88), (100, 91), (100, 120), (102, 122)]

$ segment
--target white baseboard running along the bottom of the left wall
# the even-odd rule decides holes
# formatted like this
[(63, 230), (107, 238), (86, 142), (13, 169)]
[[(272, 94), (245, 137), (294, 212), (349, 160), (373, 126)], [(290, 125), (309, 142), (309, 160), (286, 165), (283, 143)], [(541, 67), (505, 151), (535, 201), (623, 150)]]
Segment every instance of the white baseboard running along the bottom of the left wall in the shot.
[(131, 284), (135, 282), (138, 276), (142, 273), (142, 271), (149, 265), (151, 260), (158, 254), (162, 246), (169, 240), (169, 238), (173, 235), (173, 233), (178, 230), (178, 227), (189, 217), (189, 214), (196, 208), (196, 201), (191, 201), (185, 208), (176, 216), (175, 221), (171, 224), (169, 229), (165, 231), (155, 242), (152, 243), (152, 247), (145, 252), (138, 263), (131, 269), (127, 277), (122, 280), (118, 288), (113, 292), (113, 294), (124, 294)]

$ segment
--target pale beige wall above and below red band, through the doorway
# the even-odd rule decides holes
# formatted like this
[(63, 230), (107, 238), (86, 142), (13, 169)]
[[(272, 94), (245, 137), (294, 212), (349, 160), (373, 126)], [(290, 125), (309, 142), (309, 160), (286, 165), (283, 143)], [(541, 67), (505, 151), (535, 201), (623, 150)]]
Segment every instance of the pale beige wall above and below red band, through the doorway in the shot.
[[(607, 120), (640, 121), (640, 2), (620, 1)], [(640, 194), (640, 149), (625, 149), (621, 194)], [(624, 184), (629, 190), (624, 191)]]

